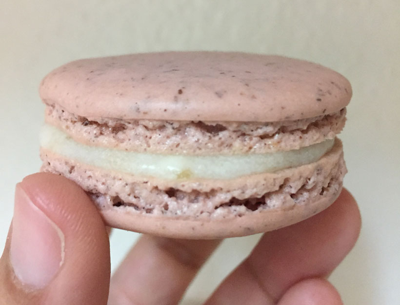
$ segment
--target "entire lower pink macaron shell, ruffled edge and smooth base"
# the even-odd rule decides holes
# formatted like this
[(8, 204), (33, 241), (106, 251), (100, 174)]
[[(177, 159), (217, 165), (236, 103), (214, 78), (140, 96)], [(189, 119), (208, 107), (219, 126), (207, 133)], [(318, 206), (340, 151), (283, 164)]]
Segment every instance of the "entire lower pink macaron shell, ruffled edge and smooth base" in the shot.
[(335, 201), (346, 173), (338, 139), (317, 162), (231, 180), (171, 182), (135, 177), (93, 168), (45, 149), (41, 158), (43, 171), (80, 184), (106, 224), (187, 239), (245, 236), (297, 223)]

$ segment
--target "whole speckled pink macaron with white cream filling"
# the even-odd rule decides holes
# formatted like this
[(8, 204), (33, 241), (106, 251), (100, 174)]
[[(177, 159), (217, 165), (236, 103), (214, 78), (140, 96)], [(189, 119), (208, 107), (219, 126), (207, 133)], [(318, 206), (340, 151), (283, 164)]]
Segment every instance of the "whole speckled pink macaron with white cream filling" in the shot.
[(316, 63), (235, 52), (83, 59), (40, 84), (42, 171), (112, 227), (220, 239), (315, 215), (340, 194), (352, 89)]

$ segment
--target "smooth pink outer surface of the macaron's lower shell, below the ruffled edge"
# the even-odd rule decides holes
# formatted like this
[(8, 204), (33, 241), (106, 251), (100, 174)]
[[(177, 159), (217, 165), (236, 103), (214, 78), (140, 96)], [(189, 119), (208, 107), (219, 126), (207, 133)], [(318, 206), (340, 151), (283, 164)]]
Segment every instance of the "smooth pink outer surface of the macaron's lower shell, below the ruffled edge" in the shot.
[[(124, 230), (180, 239), (223, 239), (273, 231), (296, 224), (329, 207), (340, 194), (341, 185), (335, 185), (329, 196), (290, 209), (265, 210), (242, 217), (226, 217), (220, 220), (198, 221), (175, 217), (148, 217), (132, 215), (122, 210), (100, 210), (108, 226)], [(327, 194), (328, 195), (328, 194)]]

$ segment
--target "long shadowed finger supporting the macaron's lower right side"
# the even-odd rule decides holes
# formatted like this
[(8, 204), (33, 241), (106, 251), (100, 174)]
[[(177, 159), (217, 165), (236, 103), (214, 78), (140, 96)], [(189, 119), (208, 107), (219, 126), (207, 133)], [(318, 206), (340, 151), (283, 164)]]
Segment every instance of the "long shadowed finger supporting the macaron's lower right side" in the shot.
[(276, 304), (299, 281), (330, 274), (359, 233), (360, 211), (343, 190), (320, 214), (264, 234), (205, 304)]

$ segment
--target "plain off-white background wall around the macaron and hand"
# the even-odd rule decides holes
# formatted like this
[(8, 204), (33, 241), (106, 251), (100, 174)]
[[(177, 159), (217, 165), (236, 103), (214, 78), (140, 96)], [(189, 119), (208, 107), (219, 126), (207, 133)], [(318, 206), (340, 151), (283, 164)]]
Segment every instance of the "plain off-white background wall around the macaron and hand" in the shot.
[[(235, 50), (319, 62), (353, 85), (345, 185), (360, 203), (358, 244), (331, 280), (345, 304), (400, 300), (400, 1), (1, 0), (0, 246), (14, 187), (40, 168), (41, 78), (67, 61), (159, 50)], [(113, 268), (137, 238), (115, 231)], [(258, 236), (227, 240), (183, 304), (200, 304)], [(196, 301), (195, 301), (196, 300)]]

